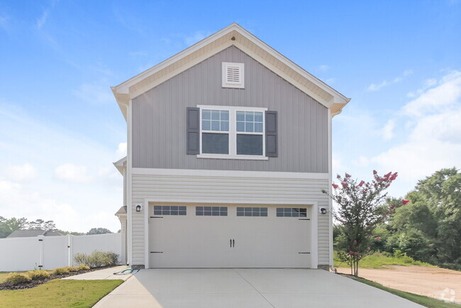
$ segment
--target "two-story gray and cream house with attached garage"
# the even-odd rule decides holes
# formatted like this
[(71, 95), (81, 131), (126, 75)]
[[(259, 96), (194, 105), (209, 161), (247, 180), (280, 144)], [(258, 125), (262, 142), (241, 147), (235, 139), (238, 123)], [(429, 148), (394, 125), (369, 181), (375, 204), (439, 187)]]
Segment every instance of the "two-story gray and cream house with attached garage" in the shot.
[(331, 119), (350, 99), (235, 23), (112, 90), (133, 268), (333, 264), (321, 190)]

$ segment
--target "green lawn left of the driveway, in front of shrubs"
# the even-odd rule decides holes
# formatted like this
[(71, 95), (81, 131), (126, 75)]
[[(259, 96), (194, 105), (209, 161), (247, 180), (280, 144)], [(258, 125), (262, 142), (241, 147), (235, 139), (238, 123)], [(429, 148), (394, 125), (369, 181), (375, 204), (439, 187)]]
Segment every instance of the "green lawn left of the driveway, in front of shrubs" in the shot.
[(26, 290), (0, 291), (2, 307), (92, 307), (123, 280), (62, 280)]

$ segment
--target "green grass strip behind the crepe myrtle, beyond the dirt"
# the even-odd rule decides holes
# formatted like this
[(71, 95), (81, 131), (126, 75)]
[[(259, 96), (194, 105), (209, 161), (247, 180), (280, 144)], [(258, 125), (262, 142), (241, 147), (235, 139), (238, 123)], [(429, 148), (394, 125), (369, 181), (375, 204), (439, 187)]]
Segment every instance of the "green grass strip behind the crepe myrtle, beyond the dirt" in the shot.
[[(348, 268), (346, 263), (339, 260), (336, 252), (333, 255), (333, 262), (335, 268)], [(387, 255), (384, 253), (373, 253), (367, 255), (360, 260), (359, 268), (384, 268), (384, 265), (420, 265), (420, 266), (434, 266), (429, 263), (416, 261), (407, 255)]]

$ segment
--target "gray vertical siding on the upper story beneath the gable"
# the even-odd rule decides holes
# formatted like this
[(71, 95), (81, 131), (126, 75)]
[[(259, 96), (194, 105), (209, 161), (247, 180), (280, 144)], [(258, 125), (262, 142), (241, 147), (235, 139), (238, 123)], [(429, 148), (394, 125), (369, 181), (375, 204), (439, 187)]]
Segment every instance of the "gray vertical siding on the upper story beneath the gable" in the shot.
[[(221, 87), (221, 63), (245, 63), (245, 89)], [(196, 105), (278, 111), (279, 156), (221, 160), (186, 154), (186, 109)], [(133, 99), (133, 167), (328, 172), (328, 110), (235, 46)]]

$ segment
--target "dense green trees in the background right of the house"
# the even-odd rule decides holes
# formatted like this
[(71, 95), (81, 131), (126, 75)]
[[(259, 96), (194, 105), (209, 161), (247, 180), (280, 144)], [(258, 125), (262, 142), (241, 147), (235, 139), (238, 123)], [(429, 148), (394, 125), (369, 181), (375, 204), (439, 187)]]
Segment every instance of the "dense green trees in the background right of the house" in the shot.
[[(388, 198), (391, 212), (377, 226), (370, 249), (401, 251), (415, 260), (461, 270), (461, 172), (443, 169), (418, 181), (404, 199)], [(344, 249), (342, 226), (335, 225), (335, 248)]]

